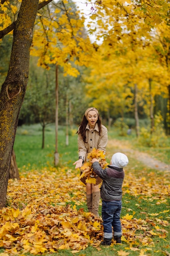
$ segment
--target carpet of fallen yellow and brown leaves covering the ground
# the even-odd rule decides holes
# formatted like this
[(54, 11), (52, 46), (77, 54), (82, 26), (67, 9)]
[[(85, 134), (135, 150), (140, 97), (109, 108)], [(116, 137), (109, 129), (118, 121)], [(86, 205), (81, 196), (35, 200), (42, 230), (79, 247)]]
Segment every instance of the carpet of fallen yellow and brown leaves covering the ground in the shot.
[[(123, 196), (156, 201), (155, 204), (163, 204), (163, 211), (170, 211), (168, 172), (160, 175), (145, 168), (140, 174), (133, 168), (126, 168), (125, 172)], [(0, 209), (0, 247), (5, 249), (6, 256), (53, 253), (58, 249), (76, 253), (89, 245), (101, 250), (102, 218), (84, 211), (85, 186), (77, 171), (51, 167), (22, 174), (20, 180), (9, 180), (7, 200), (9, 206)], [(159, 218), (162, 212), (155, 216), (147, 213), (141, 219), (128, 211), (121, 217), (126, 249), (139, 250), (141, 255), (139, 247), (147, 246), (145, 251), (149, 250), (154, 246), (155, 236), (166, 240), (169, 219)], [(154, 219), (150, 218), (153, 216)], [(114, 245), (113, 242), (111, 246)], [(118, 255), (128, 255), (121, 251)]]

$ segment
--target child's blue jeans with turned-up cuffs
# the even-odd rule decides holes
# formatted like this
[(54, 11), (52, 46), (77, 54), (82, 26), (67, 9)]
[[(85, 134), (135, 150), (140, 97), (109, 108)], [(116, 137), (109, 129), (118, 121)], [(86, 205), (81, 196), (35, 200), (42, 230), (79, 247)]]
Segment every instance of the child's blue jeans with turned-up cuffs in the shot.
[[(102, 200), (102, 219), (104, 227), (104, 238), (121, 236), (121, 200), (106, 202)], [(113, 227), (113, 233), (112, 233)]]

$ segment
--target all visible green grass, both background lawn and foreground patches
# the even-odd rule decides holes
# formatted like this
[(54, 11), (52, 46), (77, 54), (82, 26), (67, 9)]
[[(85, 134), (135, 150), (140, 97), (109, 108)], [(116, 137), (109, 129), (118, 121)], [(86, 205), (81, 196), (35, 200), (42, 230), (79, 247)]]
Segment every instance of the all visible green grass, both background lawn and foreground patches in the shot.
[[(65, 137), (65, 128), (59, 127), (58, 132), (58, 153), (60, 154), (60, 166), (67, 166), (68, 168), (73, 168), (73, 162), (77, 160), (78, 151), (77, 151), (77, 135), (76, 130), (69, 131), (69, 145), (66, 146), (66, 137)], [(110, 130), (108, 132), (109, 139), (117, 139), (121, 141), (129, 141), (132, 148), (136, 148), (139, 151), (147, 152), (153, 155), (155, 158), (160, 159), (163, 162), (167, 162), (170, 159), (170, 152), (168, 148), (147, 148), (145, 146), (140, 146), (136, 143), (135, 133), (132, 133), (130, 136), (120, 137), (117, 130)], [(33, 168), (40, 169), (44, 166), (53, 166), (54, 151), (55, 151), (55, 127), (54, 125), (48, 126), (45, 132), (45, 147), (42, 146), (42, 131), (40, 125), (32, 126), (22, 126), (17, 130), (17, 135), (15, 138), (14, 150), (16, 154), (16, 160), (18, 167), (22, 169), (32, 170)], [(114, 145), (113, 145), (114, 147)], [(25, 168), (22, 168), (25, 166)], [(146, 177), (148, 179), (148, 174), (154, 172), (157, 177), (160, 177), (162, 173), (147, 168), (142, 163), (136, 165), (136, 159), (132, 156), (129, 158), (128, 169), (132, 170), (133, 175), (138, 177)], [(146, 170), (141, 172), (141, 170)], [(144, 175), (144, 176), (143, 176)], [(156, 193), (156, 192), (155, 192)], [(151, 195), (151, 198), (146, 197), (145, 195), (135, 195), (131, 193), (126, 193), (123, 190), (123, 199), (122, 199), (122, 211), (121, 217), (125, 216), (127, 213), (129, 215), (134, 215), (133, 218), (147, 220), (148, 231), (155, 230), (153, 223), (157, 223), (157, 220), (170, 220), (170, 198), (168, 195), (165, 195), (166, 203), (159, 202), (159, 195)], [(162, 197), (160, 196), (162, 200)], [(74, 204), (74, 202), (68, 202), (68, 204)], [(87, 211), (85, 203), (78, 206), (77, 208), (84, 208)], [(157, 215), (155, 215), (157, 213)], [(99, 207), (99, 215), (101, 216), (101, 205)], [(159, 238), (158, 236), (152, 237), (153, 246), (143, 245), (136, 248), (137, 251), (131, 251), (127, 243), (122, 243), (122, 245), (115, 245), (113, 247), (100, 247), (101, 250), (98, 251), (96, 248), (89, 246), (85, 250), (73, 254), (70, 250), (59, 250), (54, 254), (42, 254), (43, 256), (110, 256), (110, 255), (119, 255), (118, 252), (123, 250), (128, 253), (129, 256), (138, 256), (138, 255), (147, 255), (147, 256), (162, 256), (170, 255), (170, 226), (164, 226), (158, 224), (160, 229), (166, 229), (167, 237)], [(142, 234), (142, 230), (137, 230), (137, 234)], [(143, 254), (141, 253), (143, 249)], [(0, 249), (0, 252), (3, 252), (3, 249)], [(28, 254), (31, 255), (31, 254)], [(123, 254), (122, 254), (123, 255)], [(125, 255), (125, 254), (124, 254)]]

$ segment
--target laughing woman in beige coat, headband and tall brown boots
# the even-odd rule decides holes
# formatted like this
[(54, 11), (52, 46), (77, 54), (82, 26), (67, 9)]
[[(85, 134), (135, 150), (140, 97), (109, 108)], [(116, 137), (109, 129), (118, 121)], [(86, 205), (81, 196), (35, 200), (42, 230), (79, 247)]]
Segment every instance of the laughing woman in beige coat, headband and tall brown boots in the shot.
[[(107, 128), (101, 124), (99, 112), (96, 108), (86, 110), (77, 133), (79, 160), (74, 163), (76, 169), (81, 168), (84, 161), (87, 161), (87, 155), (93, 148), (103, 150), (104, 154), (106, 153), (108, 132)], [(86, 183), (86, 200), (88, 211), (99, 216), (99, 185)]]

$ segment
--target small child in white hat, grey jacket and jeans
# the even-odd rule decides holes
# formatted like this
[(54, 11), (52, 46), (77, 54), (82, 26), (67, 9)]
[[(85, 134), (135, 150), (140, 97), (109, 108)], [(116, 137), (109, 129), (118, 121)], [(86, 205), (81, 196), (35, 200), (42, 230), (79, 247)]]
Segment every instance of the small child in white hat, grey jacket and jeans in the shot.
[(93, 171), (103, 180), (100, 194), (102, 198), (104, 240), (101, 245), (111, 245), (113, 236), (116, 243), (121, 243), (121, 187), (124, 180), (123, 167), (128, 164), (128, 157), (123, 153), (115, 153), (110, 165), (105, 169), (100, 167), (99, 160), (96, 158), (93, 158), (91, 162), (93, 163)]

